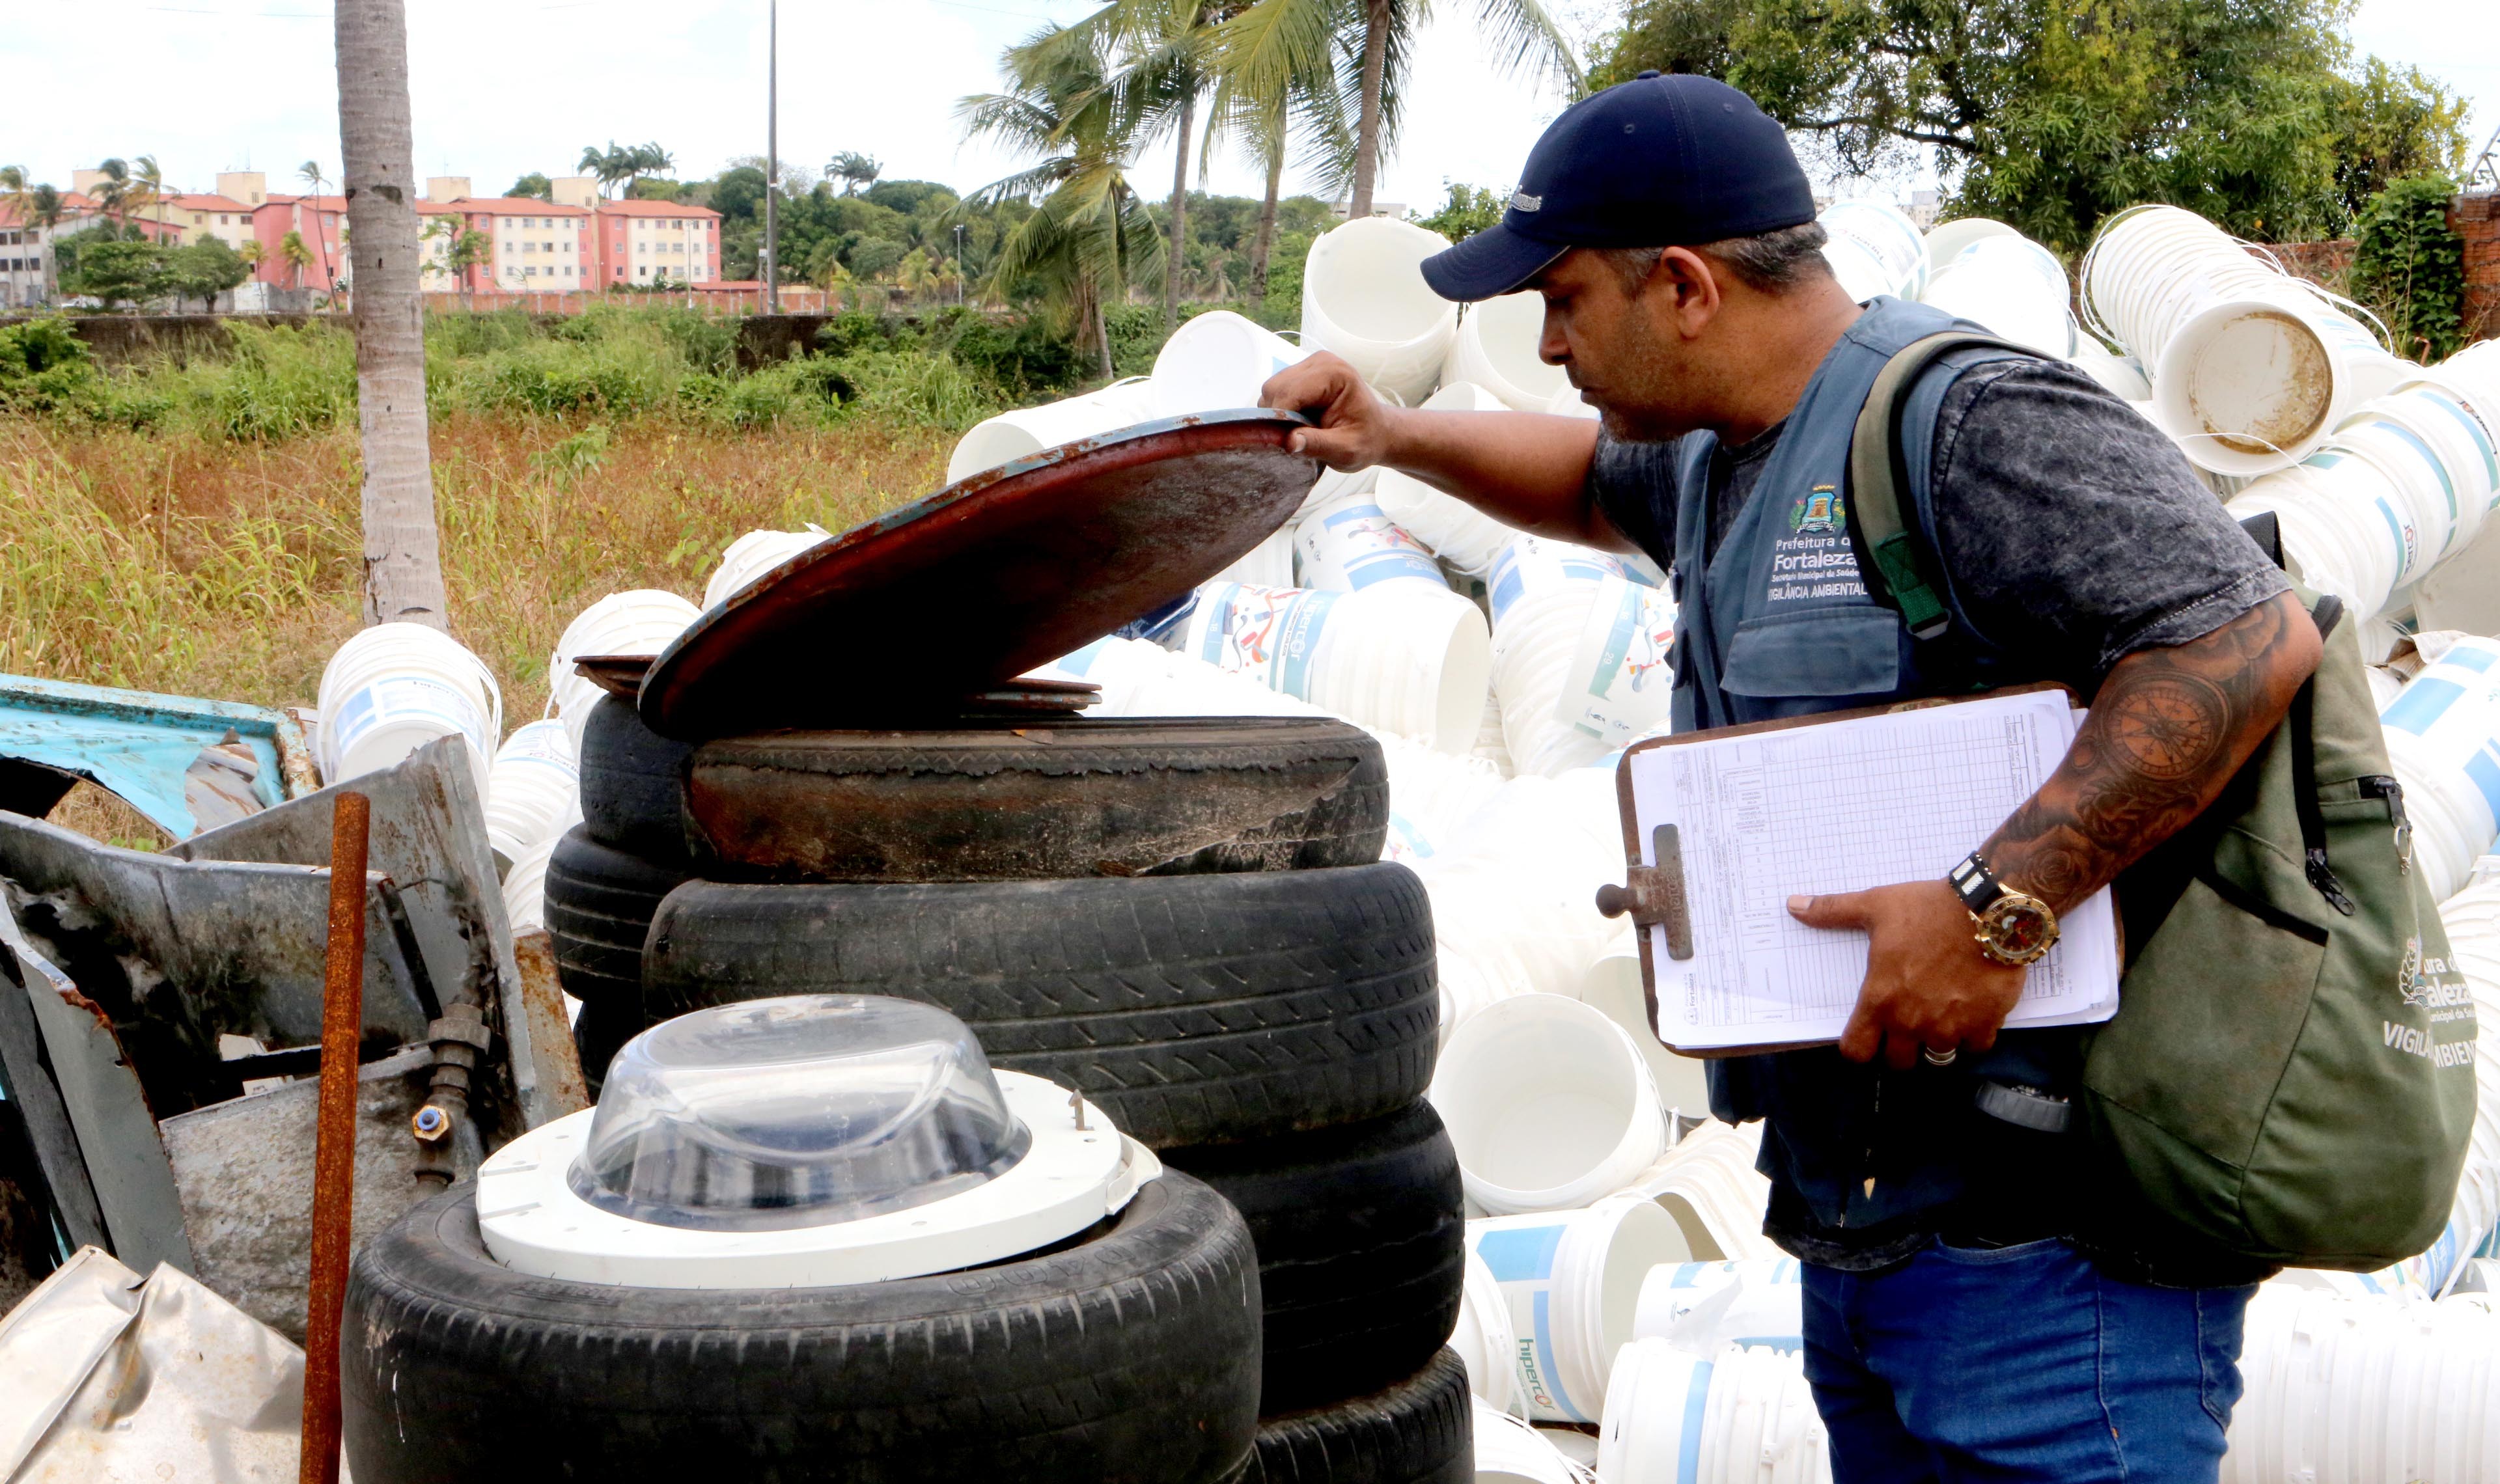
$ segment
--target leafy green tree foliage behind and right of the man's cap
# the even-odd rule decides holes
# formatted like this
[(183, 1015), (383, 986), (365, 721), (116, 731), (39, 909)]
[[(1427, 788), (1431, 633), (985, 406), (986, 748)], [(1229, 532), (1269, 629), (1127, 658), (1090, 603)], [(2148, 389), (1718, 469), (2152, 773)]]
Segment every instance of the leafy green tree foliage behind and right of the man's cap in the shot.
[(1630, 0), (1595, 85), (1640, 67), (1750, 92), (1845, 175), (1935, 160), (1948, 215), (2080, 247), (2162, 200), (2225, 230), (2345, 230), (2372, 190), (2455, 167), (2462, 102), (2350, 70), (2352, 0)]

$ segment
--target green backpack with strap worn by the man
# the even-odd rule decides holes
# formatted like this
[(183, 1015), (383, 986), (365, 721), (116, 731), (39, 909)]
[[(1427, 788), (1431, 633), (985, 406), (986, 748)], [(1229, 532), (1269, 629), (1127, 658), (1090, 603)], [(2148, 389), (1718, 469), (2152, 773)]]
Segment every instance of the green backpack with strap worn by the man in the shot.
[[(1938, 355), (1975, 345), (2022, 350), (1960, 332), (1910, 345), (1850, 447), (1860, 572), (1920, 642), (1950, 642), (1952, 620), (1928, 537), (1902, 520), (1900, 415)], [(2260, 522), (2250, 535), (2282, 565)], [(2168, 1282), (2422, 1252), (2475, 1119), (2472, 994), (2412, 869), (2358, 625), (2332, 595), (2295, 592), (2325, 660), (2205, 814), (2120, 874), (2120, 1007), (2088, 1029), (2082, 1239)]]

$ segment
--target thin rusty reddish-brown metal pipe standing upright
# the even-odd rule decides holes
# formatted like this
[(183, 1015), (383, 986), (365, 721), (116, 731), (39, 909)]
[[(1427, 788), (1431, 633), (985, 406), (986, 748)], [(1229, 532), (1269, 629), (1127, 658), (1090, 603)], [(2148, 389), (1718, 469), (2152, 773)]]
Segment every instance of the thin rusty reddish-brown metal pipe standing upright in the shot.
[(365, 839), (372, 802), (342, 792), (330, 817), (330, 962), (320, 1007), (320, 1122), (312, 1144), (312, 1284), (305, 1304), (305, 1422), (298, 1484), (338, 1484), (338, 1332), (355, 1222), (355, 1067), (365, 1022)]

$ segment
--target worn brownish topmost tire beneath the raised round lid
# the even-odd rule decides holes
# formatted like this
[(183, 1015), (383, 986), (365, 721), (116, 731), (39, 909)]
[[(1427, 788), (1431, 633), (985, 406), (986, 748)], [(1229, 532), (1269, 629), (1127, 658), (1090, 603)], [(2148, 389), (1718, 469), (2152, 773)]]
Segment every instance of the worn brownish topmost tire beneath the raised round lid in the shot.
[(1328, 717), (770, 732), (685, 772), (708, 879), (1020, 882), (1380, 859), (1380, 742)]

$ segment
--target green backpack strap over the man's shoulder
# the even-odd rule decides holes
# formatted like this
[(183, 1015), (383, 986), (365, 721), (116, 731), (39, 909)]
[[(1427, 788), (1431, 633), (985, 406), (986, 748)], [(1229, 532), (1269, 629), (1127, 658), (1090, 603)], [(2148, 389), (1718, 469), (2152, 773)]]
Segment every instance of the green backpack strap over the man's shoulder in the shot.
[(2040, 360), (2038, 350), (1995, 335), (1970, 330), (1925, 335), (1900, 347), (1875, 375), (1875, 387), (1858, 410), (1858, 430), (1850, 435), (1850, 495), (1842, 515), (1850, 545), (1858, 547), (1858, 575), (1875, 602), (1900, 615), (1915, 640), (1940, 637), (1952, 627), (1952, 610), (1945, 605), (1932, 542), (1918, 520), (1902, 515), (1915, 512), (1915, 505), (1900, 420), (1918, 377), (1955, 350), (2010, 350)]

